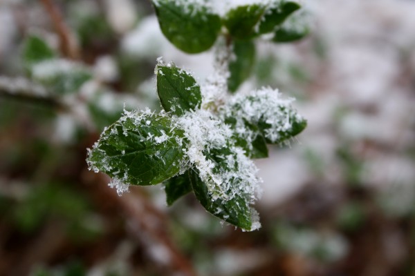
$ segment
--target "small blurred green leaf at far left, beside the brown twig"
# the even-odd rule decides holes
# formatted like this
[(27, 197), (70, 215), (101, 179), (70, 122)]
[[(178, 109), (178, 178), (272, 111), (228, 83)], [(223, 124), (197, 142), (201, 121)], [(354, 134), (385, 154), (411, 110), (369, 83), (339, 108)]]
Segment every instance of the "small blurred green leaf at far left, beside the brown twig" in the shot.
[(55, 57), (56, 52), (40, 37), (30, 35), (26, 38), (23, 48), (23, 60), (27, 66)]

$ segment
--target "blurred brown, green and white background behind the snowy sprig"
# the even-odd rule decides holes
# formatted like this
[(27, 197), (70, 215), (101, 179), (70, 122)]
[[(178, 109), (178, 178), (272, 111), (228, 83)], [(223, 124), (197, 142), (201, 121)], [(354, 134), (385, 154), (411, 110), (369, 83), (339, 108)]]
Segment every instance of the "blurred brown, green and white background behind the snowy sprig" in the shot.
[(91, 74), (65, 100), (85, 104), (74, 115), (12, 97), (42, 84), (27, 37), (63, 56), (42, 2), (0, 3), (0, 275), (415, 275), (414, 1), (306, 1), (307, 39), (257, 42), (240, 89), (296, 97), (308, 128), (257, 161), (253, 233), (222, 226), (192, 195), (171, 208), (160, 187), (118, 197), (84, 161), (124, 103), (160, 109), (156, 57), (204, 79), (212, 52), (176, 50), (149, 1), (53, 1)]

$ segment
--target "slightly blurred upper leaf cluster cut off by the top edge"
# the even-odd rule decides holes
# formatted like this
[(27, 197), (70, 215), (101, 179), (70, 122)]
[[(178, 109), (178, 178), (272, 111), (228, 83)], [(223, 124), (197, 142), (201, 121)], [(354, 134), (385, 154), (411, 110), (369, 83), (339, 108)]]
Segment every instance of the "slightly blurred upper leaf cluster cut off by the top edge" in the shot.
[(153, 0), (160, 29), (178, 49), (190, 54), (210, 49), (221, 32), (228, 37), (233, 59), (228, 90), (235, 92), (250, 76), (255, 63), (255, 43), (267, 37), (274, 43), (306, 37), (309, 28), (295, 1), (273, 0), (231, 8), (220, 15), (209, 1)]

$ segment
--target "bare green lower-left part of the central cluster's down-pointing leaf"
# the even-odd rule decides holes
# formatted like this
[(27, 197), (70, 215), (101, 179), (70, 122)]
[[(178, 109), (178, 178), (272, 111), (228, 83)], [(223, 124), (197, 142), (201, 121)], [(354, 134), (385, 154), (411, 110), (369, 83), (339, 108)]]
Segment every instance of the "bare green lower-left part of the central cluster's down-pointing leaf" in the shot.
[(190, 172), (190, 179), (196, 199), (209, 213), (243, 230), (251, 230), (253, 210), (243, 196), (235, 195), (228, 201), (220, 198), (215, 200), (196, 172)]

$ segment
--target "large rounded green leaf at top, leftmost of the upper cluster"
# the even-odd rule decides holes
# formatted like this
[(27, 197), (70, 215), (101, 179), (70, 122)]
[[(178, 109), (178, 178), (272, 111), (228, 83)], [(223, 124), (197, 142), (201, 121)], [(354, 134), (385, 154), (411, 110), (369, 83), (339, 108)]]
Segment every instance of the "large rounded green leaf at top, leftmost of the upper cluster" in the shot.
[(180, 50), (208, 50), (221, 30), (221, 18), (206, 6), (192, 1), (153, 0), (160, 29)]

